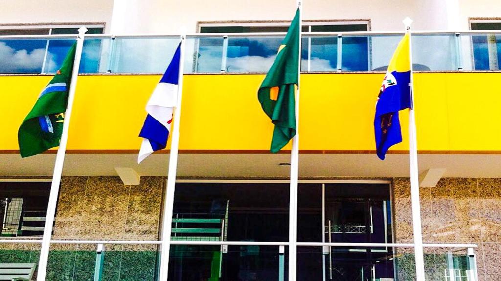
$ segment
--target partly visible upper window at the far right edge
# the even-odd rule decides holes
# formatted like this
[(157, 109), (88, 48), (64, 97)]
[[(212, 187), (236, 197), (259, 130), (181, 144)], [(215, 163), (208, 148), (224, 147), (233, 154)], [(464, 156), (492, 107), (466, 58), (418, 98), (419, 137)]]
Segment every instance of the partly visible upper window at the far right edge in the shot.
[[(471, 30), (501, 30), (501, 19), (470, 19)], [(501, 34), (471, 36), (475, 70), (499, 70)]]

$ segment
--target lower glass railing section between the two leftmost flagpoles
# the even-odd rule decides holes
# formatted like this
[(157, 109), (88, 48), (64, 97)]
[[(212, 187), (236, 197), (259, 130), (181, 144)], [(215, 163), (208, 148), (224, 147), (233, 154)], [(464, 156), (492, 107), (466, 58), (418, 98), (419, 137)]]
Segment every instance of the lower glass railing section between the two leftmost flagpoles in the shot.
[(47, 280), (151, 280), (157, 279), (157, 245), (53, 244)]

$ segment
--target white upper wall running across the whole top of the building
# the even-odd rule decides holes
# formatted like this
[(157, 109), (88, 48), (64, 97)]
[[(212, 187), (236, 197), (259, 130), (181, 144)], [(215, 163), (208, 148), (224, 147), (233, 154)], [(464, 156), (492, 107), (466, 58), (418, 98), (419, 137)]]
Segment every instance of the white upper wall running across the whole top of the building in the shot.
[[(303, 6), (304, 19), (370, 18), (374, 31), (401, 30), (405, 16), (415, 30), (467, 29), (468, 17), (501, 16), (500, 0), (304, 0)], [(290, 20), (295, 8), (296, 0), (0, 0), (0, 24), (106, 22), (107, 31), (178, 33), (195, 32), (197, 21)]]

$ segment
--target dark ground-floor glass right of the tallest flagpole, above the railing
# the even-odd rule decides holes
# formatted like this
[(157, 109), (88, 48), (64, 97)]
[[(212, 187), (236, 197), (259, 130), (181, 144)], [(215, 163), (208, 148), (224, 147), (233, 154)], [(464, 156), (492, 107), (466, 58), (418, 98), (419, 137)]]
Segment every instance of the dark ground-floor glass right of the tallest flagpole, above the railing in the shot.
[[(388, 243), (392, 212), (388, 184), (300, 184), (298, 239), (308, 242)], [(325, 216), (322, 216), (322, 206)], [(322, 222), (322, 219), (325, 219)], [(323, 228), (322, 228), (323, 227)], [(322, 236), (324, 235), (324, 240)]]

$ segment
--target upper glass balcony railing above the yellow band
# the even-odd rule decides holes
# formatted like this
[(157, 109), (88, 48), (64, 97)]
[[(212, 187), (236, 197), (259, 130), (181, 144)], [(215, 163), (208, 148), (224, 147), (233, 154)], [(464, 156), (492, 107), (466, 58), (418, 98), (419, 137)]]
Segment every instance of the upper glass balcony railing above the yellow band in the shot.
[[(304, 72), (384, 71), (402, 33), (303, 33)], [(283, 33), (195, 34), (186, 39), (185, 73), (266, 72)], [(501, 31), (416, 32), (413, 68), (418, 71), (499, 70)], [(0, 74), (53, 73), (75, 35), (0, 36)], [(161, 73), (178, 36), (85, 38), (81, 73)]]

